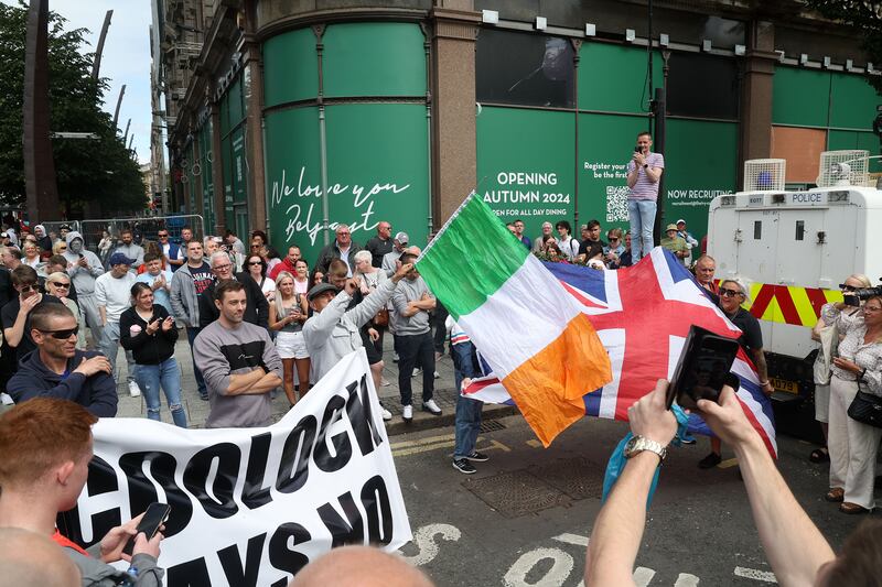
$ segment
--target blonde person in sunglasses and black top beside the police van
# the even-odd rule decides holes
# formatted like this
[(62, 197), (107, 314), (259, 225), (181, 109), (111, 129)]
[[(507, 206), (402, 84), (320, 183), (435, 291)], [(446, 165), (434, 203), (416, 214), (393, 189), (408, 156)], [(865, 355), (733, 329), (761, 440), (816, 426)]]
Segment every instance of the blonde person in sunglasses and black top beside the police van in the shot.
[[(741, 330), (741, 336), (738, 338), (738, 344), (751, 358), (753, 365), (756, 367), (756, 374), (760, 377), (760, 385), (763, 393), (771, 395), (774, 390), (772, 383), (768, 381), (768, 368), (765, 362), (765, 352), (763, 352), (763, 333), (760, 330), (760, 320), (753, 314), (741, 307), (747, 300), (747, 287), (736, 280), (725, 280), (720, 283), (720, 289), (717, 292), (720, 296), (720, 309), (723, 311), (729, 322), (738, 326)], [(711, 436), (710, 439), (711, 453), (702, 458), (698, 466), (702, 469), (710, 469), (722, 463), (722, 446), (717, 436)]]

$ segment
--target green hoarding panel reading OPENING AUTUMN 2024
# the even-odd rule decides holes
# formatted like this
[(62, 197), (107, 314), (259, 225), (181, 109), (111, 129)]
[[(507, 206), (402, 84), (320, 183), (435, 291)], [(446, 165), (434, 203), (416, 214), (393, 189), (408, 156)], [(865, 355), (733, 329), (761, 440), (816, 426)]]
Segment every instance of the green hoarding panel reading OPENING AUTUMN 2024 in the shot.
[(530, 238), (546, 220), (573, 224), (574, 117), (492, 107), (477, 117), (477, 193), (502, 220), (521, 218)]

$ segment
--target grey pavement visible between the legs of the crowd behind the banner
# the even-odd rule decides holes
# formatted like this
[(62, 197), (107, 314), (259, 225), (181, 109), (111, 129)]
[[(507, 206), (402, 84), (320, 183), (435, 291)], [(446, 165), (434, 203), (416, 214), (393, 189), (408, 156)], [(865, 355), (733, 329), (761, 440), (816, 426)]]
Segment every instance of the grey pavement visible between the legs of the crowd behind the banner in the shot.
[[(411, 378), (411, 385), (413, 389), (413, 420), (408, 424), (401, 418), (401, 402), (398, 388), (398, 365), (392, 360), (392, 337), (387, 335), (384, 337), (384, 370), (383, 377), (388, 381), (388, 387), (381, 387), (378, 390), (380, 403), (392, 413), (392, 420), (386, 423), (386, 431), (390, 436), (402, 434), (406, 432), (421, 431), (428, 428), (439, 428), (452, 426), (454, 420), (454, 410), (456, 405), (456, 393), (454, 391), (453, 380), (453, 362), (450, 355), (443, 355), (435, 363), (435, 370), (440, 376), (434, 380), (434, 400), (441, 407), (442, 414), (434, 416), (428, 412), (420, 410), (420, 404), (417, 400), (422, 395), (422, 374)], [(187, 425), (191, 428), (202, 428), (205, 426), (205, 420), (208, 417), (208, 402), (201, 400), (196, 388), (196, 380), (193, 377), (193, 361), (190, 355), (190, 345), (186, 341), (186, 335), (181, 331), (178, 337), (178, 343), (174, 349), (174, 357), (178, 365), (181, 366), (181, 389), (184, 411), (186, 412)], [(119, 374), (119, 407), (117, 416), (119, 417), (147, 417), (147, 405), (143, 395), (131, 398), (129, 389), (126, 383), (128, 374), (128, 367), (122, 354), (117, 358), (117, 366), (120, 369)], [(295, 378), (297, 379), (297, 378)], [(160, 417), (163, 422), (172, 423), (171, 413), (169, 412), (169, 404), (165, 398), (161, 395), (161, 412)], [(272, 400), (272, 418), (277, 422), (288, 412), (288, 399), (284, 393), (279, 389)], [(512, 415), (515, 413), (515, 407), (507, 405), (491, 405), (484, 407), (484, 418), (494, 420)]]

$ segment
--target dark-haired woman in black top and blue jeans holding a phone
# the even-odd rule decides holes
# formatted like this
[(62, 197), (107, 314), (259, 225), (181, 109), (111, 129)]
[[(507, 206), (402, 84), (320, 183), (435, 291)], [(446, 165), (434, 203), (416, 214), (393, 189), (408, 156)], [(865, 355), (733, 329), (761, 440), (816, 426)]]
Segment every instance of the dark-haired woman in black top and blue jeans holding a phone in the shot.
[(181, 403), (181, 369), (174, 359), (178, 328), (161, 304), (153, 303), (153, 290), (143, 282), (131, 286), (135, 305), (119, 317), (119, 343), (135, 356), (135, 378), (147, 401), (147, 417), (160, 420), (159, 390), (165, 393), (175, 426), (186, 427)]

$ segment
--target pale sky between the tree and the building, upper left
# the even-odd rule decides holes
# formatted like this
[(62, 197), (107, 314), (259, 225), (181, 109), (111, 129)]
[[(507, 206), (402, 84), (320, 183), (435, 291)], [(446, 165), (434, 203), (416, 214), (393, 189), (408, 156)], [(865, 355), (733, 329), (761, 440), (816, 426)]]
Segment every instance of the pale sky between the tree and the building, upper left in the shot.
[[(0, 0), (19, 6), (18, 0)], [(101, 33), (104, 17), (114, 11), (101, 56), (100, 76), (106, 77), (108, 90), (103, 109), (114, 115), (119, 88), (126, 85), (126, 95), (119, 110), (119, 134), (131, 118), (129, 137), (135, 133), (132, 148), (138, 161), (150, 161), (150, 0), (49, 0), (49, 9), (65, 19), (66, 29), (88, 29), (85, 53), (95, 51)]]

